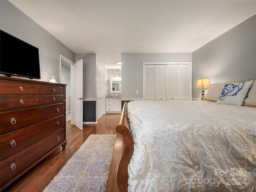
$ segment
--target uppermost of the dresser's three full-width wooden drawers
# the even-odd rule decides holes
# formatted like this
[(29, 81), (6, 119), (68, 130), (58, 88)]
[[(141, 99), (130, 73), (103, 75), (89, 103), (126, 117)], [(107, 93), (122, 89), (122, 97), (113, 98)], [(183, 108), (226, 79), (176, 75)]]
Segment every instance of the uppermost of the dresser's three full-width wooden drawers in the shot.
[(64, 114), (63, 103), (0, 113), (0, 134)]

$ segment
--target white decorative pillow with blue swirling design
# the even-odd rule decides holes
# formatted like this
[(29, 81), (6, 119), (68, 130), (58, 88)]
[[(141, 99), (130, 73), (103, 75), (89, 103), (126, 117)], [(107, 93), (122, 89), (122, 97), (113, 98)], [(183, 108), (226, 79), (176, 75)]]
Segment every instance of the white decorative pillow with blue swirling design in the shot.
[(253, 80), (226, 84), (216, 103), (242, 106), (252, 83)]

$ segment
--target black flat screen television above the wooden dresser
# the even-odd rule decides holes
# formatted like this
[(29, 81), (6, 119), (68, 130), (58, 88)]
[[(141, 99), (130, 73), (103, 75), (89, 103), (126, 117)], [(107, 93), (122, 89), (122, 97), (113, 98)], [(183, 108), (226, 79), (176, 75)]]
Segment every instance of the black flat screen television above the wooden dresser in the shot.
[(38, 48), (0, 30), (0, 74), (40, 79)]

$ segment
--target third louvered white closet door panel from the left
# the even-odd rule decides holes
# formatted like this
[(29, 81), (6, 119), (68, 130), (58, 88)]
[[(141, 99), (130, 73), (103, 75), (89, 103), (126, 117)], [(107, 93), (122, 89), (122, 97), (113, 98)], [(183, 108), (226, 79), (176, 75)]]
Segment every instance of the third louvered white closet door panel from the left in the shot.
[(178, 65), (167, 65), (167, 100), (178, 100)]

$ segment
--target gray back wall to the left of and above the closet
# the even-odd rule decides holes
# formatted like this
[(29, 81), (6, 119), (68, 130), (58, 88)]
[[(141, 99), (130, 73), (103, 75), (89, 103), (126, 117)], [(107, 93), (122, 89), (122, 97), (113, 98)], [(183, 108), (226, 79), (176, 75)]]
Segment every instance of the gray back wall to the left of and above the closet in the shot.
[[(192, 53), (122, 53), (122, 100), (142, 99), (142, 62), (192, 61)], [(138, 94), (136, 94), (138, 90)]]

